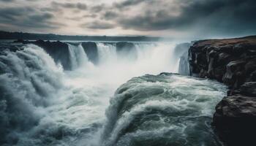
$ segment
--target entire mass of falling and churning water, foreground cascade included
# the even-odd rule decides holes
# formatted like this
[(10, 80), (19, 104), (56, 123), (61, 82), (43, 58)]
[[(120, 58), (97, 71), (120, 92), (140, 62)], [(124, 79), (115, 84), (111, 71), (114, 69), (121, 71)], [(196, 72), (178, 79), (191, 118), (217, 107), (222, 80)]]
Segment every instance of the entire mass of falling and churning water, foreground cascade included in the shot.
[(0, 43), (0, 145), (221, 145), (211, 120), (226, 87), (160, 74), (182, 70), (174, 44), (134, 43), (121, 53), (113, 42), (96, 44), (97, 63), (89, 48), (67, 42), (64, 69), (53, 58), (61, 53)]

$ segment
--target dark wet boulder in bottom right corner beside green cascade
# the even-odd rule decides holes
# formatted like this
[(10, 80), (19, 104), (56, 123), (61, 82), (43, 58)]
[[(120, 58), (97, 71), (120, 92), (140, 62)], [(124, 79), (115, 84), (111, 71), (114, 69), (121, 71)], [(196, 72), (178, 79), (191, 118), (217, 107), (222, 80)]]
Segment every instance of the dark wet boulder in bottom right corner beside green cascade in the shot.
[(256, 97), (227, 96), (217, 104), (214, 126), (226, 145), (255, 145)]

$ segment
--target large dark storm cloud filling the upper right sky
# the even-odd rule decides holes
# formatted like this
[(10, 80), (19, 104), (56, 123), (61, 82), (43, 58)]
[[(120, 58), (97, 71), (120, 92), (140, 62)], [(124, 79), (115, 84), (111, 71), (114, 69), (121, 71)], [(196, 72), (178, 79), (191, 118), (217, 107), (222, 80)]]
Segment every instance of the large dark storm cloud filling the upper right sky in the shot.
[[(256, 1), (254, 0), (176, 0), (179, 15), (170, 15), (172, 9), (166, 1), (136, 1), (148, 4), (140, 14), (133, 17), (121, 15), (117, 23), (123, 28), (138, 31), (158, 31), (165, 29), (189, 29), (206, 27), (212, 31), (255, 31)], [(166, 7), (159, 7), (159, 4)], [(121, 3), (127, 6), (135, 3)], [(200, 25), (200, 26), (198, 26)]]

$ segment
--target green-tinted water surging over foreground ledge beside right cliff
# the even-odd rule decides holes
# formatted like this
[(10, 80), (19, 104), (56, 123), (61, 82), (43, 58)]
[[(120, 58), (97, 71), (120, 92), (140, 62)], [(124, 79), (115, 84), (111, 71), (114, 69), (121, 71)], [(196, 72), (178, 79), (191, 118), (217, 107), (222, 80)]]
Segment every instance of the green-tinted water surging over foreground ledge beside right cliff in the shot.
[(102, 145), (221, 145), (211, 130), (225, 86), (178, 74), (135, 77), (116, 91)]

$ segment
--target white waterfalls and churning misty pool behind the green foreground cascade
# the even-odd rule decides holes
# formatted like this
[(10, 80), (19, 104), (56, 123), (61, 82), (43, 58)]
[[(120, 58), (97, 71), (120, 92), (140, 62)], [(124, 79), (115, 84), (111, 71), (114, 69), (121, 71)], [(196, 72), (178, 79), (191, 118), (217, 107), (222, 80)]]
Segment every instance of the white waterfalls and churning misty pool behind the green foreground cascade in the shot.
[(1, 105), (13, 107), (17, 117), (12, 111), (6, 117), (19, 123), (4, 136), (7, 143), (97, 145), (109, 99), (119, 85), (143, 74), (178, 71), (178, 61), (172, 60), (174, 44), (135, 46), (137, 58), (133, 54), (119, 56), (115, 45), (97, 43), (99, 64), (95, 66), (81, 45), (69, 45), (72, 71), (63, 71), (50, 55), (34, 45), (16, 53), (7, 52), (7, 57), (1, 57), (0, 65), (8, 72), (0, 75), (4, 82), (1, 87), (15, 105), (10, 99), (1, 101)]

